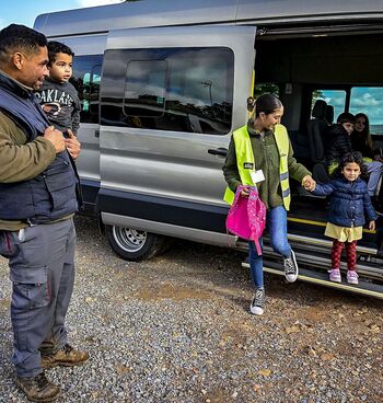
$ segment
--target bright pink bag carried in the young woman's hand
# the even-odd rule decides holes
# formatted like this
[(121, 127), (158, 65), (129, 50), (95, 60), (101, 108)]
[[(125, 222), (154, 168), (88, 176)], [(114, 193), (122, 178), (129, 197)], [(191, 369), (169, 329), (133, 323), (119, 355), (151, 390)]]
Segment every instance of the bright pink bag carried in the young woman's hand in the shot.
[(247, 197), (242, 197), (241, 192), (246, 186), (237, 186), (234, 202), (227, 218), (227, 229), (234, 235), (248, 241), (254, 241), (258, 255), (262, 255), (259, 238), (266, 227), (266, 206), (258, 197), (256, 187), (251, 187)]

